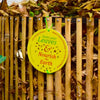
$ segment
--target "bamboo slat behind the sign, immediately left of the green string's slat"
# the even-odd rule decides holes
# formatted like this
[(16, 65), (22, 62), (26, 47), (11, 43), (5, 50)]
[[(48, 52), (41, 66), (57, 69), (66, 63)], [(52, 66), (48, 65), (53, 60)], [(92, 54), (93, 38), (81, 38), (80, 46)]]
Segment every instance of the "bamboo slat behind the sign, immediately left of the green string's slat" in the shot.
[[(42, 17), (37, 19), (38, 30), (43, 29)], [(44, 74), (38, 72), (38, 100), (44, 100)]]

